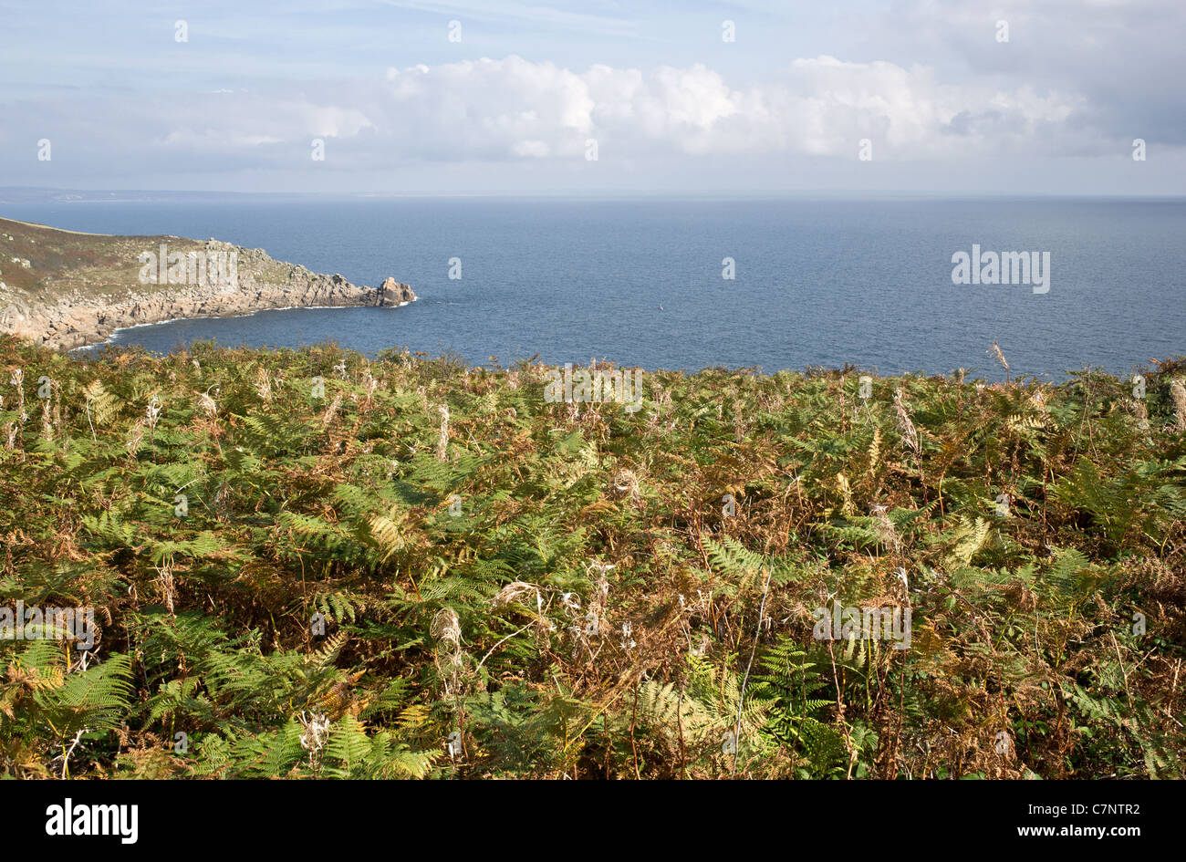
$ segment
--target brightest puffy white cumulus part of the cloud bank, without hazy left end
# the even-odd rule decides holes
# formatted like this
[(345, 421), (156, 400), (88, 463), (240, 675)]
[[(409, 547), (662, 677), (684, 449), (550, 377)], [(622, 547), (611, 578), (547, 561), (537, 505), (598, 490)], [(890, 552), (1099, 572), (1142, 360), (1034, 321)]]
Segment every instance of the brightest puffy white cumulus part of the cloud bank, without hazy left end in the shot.
[(738, 89), (701, 64), (574, 72), (515, 56), (389, 70), (388, 83), (388, 103), (376, 110), (398, 116), (413, 139), (406, 145), (438, 159), (575, 157), (586, 138), (633, 155), (841, 158), (869, 138), (878, 158), (932, 158), (1037, 141), (1079, 102), (1028, 87), (939, 84), (926, 68), (828, 56)]

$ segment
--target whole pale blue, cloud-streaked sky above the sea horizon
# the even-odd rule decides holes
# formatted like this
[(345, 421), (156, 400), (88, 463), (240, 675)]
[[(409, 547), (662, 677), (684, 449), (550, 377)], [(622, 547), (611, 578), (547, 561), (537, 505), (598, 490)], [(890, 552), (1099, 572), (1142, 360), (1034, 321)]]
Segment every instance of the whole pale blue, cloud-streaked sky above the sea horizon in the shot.
[(0, 186), (1182, 194), (1184, 36), (1184, 0), (0, 0)]

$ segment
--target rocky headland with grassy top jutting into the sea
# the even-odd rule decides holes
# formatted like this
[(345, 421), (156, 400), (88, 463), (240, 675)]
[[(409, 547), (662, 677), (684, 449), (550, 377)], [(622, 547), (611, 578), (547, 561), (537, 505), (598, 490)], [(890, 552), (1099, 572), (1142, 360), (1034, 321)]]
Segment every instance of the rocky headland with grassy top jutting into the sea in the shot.
[(75, 234), (0, 219), (0, 332), (51, 347), (176, 318), (415, 299), (391, 277), (378, 288), (357, 286), (215, 240)]

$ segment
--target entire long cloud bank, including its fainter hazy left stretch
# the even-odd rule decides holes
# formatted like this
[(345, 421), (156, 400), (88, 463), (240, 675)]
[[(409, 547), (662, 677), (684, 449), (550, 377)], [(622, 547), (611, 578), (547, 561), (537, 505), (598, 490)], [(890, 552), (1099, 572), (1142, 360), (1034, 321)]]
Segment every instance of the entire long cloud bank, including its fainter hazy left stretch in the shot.
[[(100, 170), (128, 174), (304, 171), (301, 183), (325, 177), (340, 187), (351, 172), (387, 177), (419, 166), (440, 175), (518, 162), (530, 177), (499, 177), (528, 186), (557, 177), (595, 181), (582, 173), (592, 138), (598, 179), (617, 167), (623, 177), (682, 175), (695, 186), (708, 161), (714, 173), (725, 166), (763, 178), (804, 157), (827, 159), (840, 171), (835, 181), (859, 183), (846, 172), (865, 138), (875, 161), (903, 165), (1126, 154), (1127, 143), (1084, 122), (1083, 104), (1073, 91), (943, 82), (930, 66), (831, 56), (735, 83), (704, 64), (573, 70), (511, 55), (249, 92), (111, 96), (100, 106), (64, 96), (21, 110), (31, 128), (83, 129), (53, 135), (55, 154), (60, 140), (60, 152), (84, 149)], [(310, 173), (314, 138), (333, 141), (319, 173)]]

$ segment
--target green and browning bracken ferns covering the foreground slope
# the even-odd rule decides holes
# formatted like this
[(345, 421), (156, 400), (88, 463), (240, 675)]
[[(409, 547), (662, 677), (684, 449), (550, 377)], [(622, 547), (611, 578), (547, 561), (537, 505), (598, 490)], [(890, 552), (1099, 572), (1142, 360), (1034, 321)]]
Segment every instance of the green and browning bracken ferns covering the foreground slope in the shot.
[(1184, 775), (1186, 364), (0, 364), (0, 596), (101, 628), (0, 641), (5, 775)]

